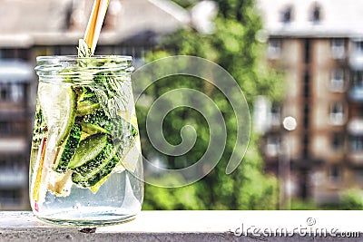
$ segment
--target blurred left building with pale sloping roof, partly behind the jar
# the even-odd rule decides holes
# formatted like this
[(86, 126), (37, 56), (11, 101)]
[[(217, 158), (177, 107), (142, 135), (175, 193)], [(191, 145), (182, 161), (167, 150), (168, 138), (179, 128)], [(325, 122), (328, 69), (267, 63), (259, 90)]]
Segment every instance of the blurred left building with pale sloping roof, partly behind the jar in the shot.
[[(0, 210), (28, 209), (38, 55), (76, 54), (91, 0), (0, 0)], [(96, 54), (132, 55), (142, 63), (160, 36), (191, 23), (165, 0), (112, 0)]]

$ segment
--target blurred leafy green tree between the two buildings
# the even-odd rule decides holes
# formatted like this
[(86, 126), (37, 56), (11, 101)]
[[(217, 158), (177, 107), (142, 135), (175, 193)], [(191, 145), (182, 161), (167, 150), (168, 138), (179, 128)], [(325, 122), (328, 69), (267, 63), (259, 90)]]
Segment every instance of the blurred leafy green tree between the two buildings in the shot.
[[(189, 1), (192, 3), (193, 1)], [(149, 60), (175, 54), (194, 55), (220, 64), (239, 83), (247, 102), (252, 103), (258, 95), (266, 95), (276, 101), (281, 98), (281, 78), (263, 63), (261, 58), (264, 46), (256, 39), (261, 28), (260, 17), (255, 12), (254, 2), (218, 0), (219, 15), (214, 21), (212, 34), (201, 34), (193, 28), (182, 28), (166, 36), (162, 44), (149, 53)], [(188, 5), (184, 5), (188, 7)], [(278, 203), (278, 181), (263, 173), (263, 160), (260, 156), (259, 137), (252, 133), (247, 153), (238, 167), (230, 175), (225, 169), (234, 149), (237, 125), (231, 105), (216, 88), (196, 78), (169, 77), (156, 82), (146, 92), (156, 98), (170, 90), (188, 87), (208, 93), (228, 122), (227, 140), (221, 161), (206, 177), (183, 188), (163, 189), (146, 184), (144, 209), (275, 209)], [(145, 130), (147, 110), (138, 107), (140, 128)], [(195, 146), (182, 158), (164, 157), (172, 168), (189, 165), (198, 160), (208, 146), (208, 126), (200, 114), (188, 109), (178, 109), (166, 116), (163, 133), (172, 144), (181, 141), (180, 129), (190, 124), (198, 131)], [(151, 144), (142, 143), (142, 151), (148, 158)], [(162, 156), (161, 153), (158, 154)], [(187, 161), (185, 161), (187, 160)], [(171, 183), (182, 178), (163, 178)]]

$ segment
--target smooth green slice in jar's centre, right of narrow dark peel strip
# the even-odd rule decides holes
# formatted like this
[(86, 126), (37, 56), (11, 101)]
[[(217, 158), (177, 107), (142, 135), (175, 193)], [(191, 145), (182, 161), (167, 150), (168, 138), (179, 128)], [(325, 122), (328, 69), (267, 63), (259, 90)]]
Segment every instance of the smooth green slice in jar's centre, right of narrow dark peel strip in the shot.
[(68, 168), (76, 169), (93, 160), (107, 147), (108, 140), (105, 134), (94, 134), (82, 140), (75, 150), (73, 159), (69, 162)]

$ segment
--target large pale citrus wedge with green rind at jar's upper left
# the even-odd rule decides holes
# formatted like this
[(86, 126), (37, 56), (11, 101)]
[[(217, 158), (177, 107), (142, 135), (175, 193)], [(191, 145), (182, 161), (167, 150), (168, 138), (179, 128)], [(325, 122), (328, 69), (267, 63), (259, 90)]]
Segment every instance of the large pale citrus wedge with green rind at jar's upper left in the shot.
[(71, 83), (39, 82), (38, 99), (51, 140), (62, 144), (74, 125), (76, 93)]

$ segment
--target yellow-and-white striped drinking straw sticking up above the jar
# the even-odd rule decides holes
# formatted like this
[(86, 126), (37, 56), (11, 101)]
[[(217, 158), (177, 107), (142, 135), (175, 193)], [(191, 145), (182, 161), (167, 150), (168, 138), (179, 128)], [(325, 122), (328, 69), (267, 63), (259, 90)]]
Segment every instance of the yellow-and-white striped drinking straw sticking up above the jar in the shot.
[(94, 0), (92, 13), (83, 37), (84, 42), (90, 47), (92, 54), (96, 48), (109, 3), (110, 0)]

